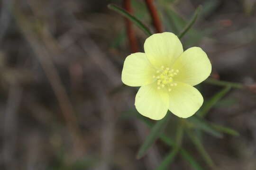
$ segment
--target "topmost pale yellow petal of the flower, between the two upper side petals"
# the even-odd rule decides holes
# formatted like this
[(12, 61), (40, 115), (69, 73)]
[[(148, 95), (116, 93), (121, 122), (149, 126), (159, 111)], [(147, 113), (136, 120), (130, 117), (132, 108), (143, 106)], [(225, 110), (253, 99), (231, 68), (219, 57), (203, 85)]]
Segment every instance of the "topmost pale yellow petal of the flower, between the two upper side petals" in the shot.
[(182, 43), (173, 33), (158, 33), (148, 37), (144, 43), (148, 60), (155, 66), (169, 67), (183, 53)]

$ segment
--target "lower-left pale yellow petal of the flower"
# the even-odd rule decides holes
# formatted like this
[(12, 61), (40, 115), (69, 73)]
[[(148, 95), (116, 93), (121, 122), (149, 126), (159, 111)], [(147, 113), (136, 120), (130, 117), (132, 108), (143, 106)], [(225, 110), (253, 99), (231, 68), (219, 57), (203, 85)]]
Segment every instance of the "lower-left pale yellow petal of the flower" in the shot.
[(156, 83), (139, 88), (135, 97), (137, 111), (150, 119), (159, 120), (168, 111), (169, 95), (166, 89), (157, 89)]

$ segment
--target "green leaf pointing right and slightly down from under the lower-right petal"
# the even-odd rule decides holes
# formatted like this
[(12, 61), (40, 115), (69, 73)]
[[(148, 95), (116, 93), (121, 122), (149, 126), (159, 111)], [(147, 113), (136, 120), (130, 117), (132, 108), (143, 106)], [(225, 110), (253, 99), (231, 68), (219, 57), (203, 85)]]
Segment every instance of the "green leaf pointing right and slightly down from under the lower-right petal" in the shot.
[(223, 135), (219, 131), (215, 130), (213, 127), (210, 126), (210, 124), (206, 120), (201, 119), (197, 115), (188, 118), (188, 120), (192, 122), (194, 126), (200, 128), (201, 130), (205, 131), (206, 133), (209, 133), (212, 136), (219, 138), (223, 137)]

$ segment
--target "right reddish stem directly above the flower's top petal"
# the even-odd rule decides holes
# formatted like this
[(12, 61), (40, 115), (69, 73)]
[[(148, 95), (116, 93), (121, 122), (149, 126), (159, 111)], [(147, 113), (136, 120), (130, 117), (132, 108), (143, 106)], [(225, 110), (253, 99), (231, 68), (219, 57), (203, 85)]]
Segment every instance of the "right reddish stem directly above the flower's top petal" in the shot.
[(155, 26), (156, 32), (157, 33), (162, 33), (163, 32), (163, 27), (162, 27), (162, 24), (161, 24), (160, 19), (158, 17), (156, 8), (153, 4), (153, 0), (145, 0), (145, 2), (146, 2), (146, 6), (149, 10), (149, 13), (151, 15), (151, 18), (152, 18), (153, 24)]

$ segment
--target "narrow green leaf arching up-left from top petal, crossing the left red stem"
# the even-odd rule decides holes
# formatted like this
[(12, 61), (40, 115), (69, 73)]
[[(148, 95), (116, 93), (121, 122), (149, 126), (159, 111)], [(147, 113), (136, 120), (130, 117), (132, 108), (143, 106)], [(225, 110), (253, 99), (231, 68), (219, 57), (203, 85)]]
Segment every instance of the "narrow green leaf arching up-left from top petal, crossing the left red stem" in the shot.
[(140, 20), (138, 20), (133, 15), (129, 14), (125, 9), (123, 9), (115, 4), (109, 4), (108, 8), (118, 12), (122, 16), (124, 16), (127, 19), (129, 19), (130, 21), (132, 21), (136, 26), (138, 26), (142, 31), (144, 31), (144, 33), (146, 35), (148, 35), (148, 36), (152, 35), (151, 32), (149, 31), (149, 29)]

